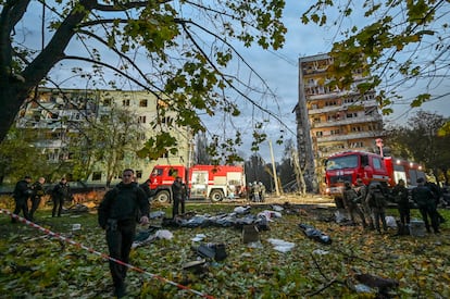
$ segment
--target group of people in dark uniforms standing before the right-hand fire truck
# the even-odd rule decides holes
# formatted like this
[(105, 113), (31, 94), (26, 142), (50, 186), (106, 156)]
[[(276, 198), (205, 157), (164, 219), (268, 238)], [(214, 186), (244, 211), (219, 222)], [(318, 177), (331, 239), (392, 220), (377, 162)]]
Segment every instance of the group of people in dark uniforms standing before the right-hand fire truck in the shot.
[[(382, 233), (383, 228), (384, 232), (387, 232), (386, 207), (388, 196), (379, 184), (371, 184), (367, 188), (361, 178), (357, 179), (355, 186), (351, 186), (350, 182), (346, 182), (342, 201), (351, 224), (357, 223), (355, 216), (358, 215), (364, 228), (376, 229), (378, 233)], [(421, 177), (417, 179), (417, 186), (410, 192), (404, 180), (399, 179), (391, 196), (398, 204), (399, 232), (404, 232), (410, 225), (411, 198), (418, 208), (426, 231), (430, 233), (433, 227), (435, 234), (439, 233), (439, 224), (445, 219), (437, 211), (439, 194), (436, 188), (433, 188), (432, 183), (426, 183)]]

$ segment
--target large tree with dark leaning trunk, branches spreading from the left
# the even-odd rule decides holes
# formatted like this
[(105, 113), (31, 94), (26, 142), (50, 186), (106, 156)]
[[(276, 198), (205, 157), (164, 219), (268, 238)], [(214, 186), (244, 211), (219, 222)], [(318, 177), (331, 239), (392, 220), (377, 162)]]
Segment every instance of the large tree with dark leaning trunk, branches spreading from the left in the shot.
[[(200, 114), (237, 116), (242, 99), (276, 119), (251, 98), (254, 86), (229, 66), (238, 60), (254, 76), (236, 45), (283, 46), (284, 5), (280, 0), (0, 0), (0, 141), (30, 90), (59, 85), (62, 67), (95, 86), (150, 91), (165, 103), (159, 117), (175, 111), (175, 125), (193, 134), (205, 130)], [(261, 98), (268, 88), (259, 78)], [(151, 155), (157, 146), (167, 142), (148, 142), (140, 154)]]

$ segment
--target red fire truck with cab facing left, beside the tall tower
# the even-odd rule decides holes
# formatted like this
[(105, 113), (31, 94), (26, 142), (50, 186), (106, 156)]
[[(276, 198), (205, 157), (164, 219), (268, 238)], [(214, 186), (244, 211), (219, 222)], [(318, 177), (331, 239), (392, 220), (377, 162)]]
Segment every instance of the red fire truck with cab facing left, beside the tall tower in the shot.
[(417, 163), (364, 151), (338, 152), (325, 164), (326, 192), (335, 197), (341, 197), (346, 180), (355, 184), (361, 178), (365, 185), (377, 182), (391, 188), (400, 178), (407, 186), (415, 186), (418, 177), (425, 174)]

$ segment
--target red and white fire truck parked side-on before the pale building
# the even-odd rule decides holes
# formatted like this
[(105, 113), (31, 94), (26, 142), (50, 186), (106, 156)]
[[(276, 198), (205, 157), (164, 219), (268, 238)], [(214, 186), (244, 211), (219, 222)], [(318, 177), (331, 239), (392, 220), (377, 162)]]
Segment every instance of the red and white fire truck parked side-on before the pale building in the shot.
[(190, 199), (222, 201), (224, 198), (242, 196), (246, 186), (243, 167), (229, 165), (157, 165), (150, 174), (150, 190), (153, 199), (168, 202), (172, 198), (172, 184), (182, 177), (189, 188)]

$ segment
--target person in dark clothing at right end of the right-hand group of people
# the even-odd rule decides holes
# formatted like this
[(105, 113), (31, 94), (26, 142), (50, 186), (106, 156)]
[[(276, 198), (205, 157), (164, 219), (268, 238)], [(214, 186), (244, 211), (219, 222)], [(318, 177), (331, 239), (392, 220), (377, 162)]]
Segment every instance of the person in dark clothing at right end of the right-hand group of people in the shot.
[(432, 190), (425, 186), (425, 179), (423, 177), (417, 178), (417, 187), (412, 190), (412, 198), (417, 204), (418, 211), (421, 212), (422, 220), (425, 223), (426, 232), (430, 233), (429, 220), (435, 234), (439, 234), (439, 223), (436, 213), (436, 202)]

